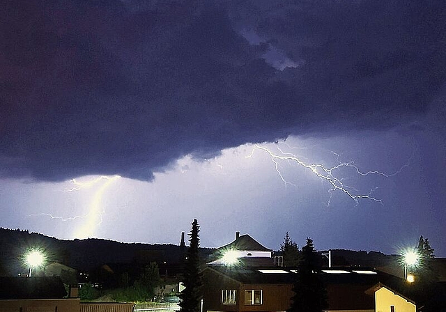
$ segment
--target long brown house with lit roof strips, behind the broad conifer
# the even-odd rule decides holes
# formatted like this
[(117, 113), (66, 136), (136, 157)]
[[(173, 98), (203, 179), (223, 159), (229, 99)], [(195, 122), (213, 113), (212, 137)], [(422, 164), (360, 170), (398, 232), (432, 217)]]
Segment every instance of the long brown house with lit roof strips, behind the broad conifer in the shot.
[[(203, 271), (203, 311), (286, 311), (291, 305), (296, 270), (282, 267), (208, 265)], [(326, 311), (374, 312), (366, 290), (395, 276), (364, 268), (321, 272), (328, 292)], [(389, 311), (390, 312), (390, 311)]]

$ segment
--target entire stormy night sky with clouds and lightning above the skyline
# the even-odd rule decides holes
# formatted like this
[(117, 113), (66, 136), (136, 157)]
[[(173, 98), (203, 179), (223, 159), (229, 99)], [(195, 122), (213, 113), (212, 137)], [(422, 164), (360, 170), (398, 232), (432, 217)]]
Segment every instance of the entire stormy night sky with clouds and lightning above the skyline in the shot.
[(1, 227), (446, 256), (445, 1), (6, 0), (0, 29)]

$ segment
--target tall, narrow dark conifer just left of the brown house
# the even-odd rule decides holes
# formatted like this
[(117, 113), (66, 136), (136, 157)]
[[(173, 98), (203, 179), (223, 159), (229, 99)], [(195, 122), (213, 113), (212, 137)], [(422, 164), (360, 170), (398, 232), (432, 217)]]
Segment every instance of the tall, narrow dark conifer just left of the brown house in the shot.
[(199, 312), (202, 295), (202, 272), (199, 257), (199, 225), (197, 219), (192, 222), (192, 231), (189, 239), (189, 248), (186, 252), (185, 266), (183, 270), (183, 285), (185, 289), (180, 293), (181, 312)]

